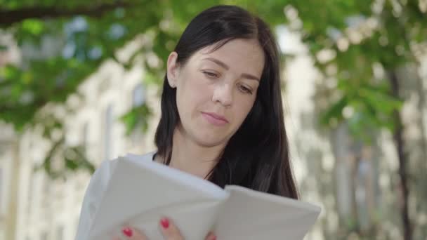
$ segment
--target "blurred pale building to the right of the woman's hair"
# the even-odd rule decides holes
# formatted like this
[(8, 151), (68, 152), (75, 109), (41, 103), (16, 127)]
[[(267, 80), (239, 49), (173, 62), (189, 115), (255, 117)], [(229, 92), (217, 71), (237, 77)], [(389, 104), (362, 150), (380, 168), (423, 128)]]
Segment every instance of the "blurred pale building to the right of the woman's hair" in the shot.
[[(402, 192), (399, 161), (393, 135), (385, 129), (372, 131), (370, 144), (353, 138), (346, 121), (322, 128), (320, 114), (335, 88), (313, 67), (314, 61), (298, 34), (280, 29), (282, 51), (294, 57), (284, 69), (285, 123), (291, 158), (303, 200), (320, 202), (322, 214), (307, 239), (402, 239), (400, 207)], [(427, 236), (427, 56), (419, 65), (398, 69), (403, 138), (407, 154), (409, 215), (414, 239)], [(377, 69), (379, 79), (385, 74)], [(331, 86), (328, 86), (331, 85)], [(346, 111), (348, 110), (348, 111)], [(351, 116), (345, 109), (343, 116)], [(333, 125), (333, 124), (332, 124)], [(423, 173), (424, 172), (424, 173)], [(424, 199), (424, 200), (423, 200)]]

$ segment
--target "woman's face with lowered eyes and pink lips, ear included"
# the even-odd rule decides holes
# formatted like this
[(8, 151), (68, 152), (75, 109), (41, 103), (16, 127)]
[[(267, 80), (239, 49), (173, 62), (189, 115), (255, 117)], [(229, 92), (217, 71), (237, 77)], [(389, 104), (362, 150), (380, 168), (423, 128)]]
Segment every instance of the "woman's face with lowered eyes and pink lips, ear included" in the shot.
[(168, 59), (168, 80), (176, 87), (180, 116), (178, 131), (197, 145), (225, 145), (254, 105), (264, 66), (264, 54), (255, 39), (234, 39), (211, 51), (193, 54), (177, 65)]

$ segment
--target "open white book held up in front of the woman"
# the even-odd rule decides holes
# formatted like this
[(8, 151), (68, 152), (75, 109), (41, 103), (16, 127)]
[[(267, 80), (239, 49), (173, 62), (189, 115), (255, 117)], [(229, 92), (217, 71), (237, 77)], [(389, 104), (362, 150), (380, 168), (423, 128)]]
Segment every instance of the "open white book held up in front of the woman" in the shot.
[(186, 240), (303, 239), (320, 208), (282, 196), (213, 183), (135, 155), (120, 157), (93, 220), (90, 239), (111, 239), (131, 225), (162, 240), (166, 216)]

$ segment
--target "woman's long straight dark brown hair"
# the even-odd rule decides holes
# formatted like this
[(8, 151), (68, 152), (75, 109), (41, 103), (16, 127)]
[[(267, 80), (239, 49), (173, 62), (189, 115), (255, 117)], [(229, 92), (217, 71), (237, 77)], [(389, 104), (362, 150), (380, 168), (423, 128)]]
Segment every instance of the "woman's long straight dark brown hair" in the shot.
[[(220, 187), (240, 185), (261, 192), (298, 199), (284, 128), (280, 88), (280, 57), (275, 38), (265, 22), (238, 6), (214, 6), (199, 13), (180, 37), (174, 51), (185, 62), (206, 46), (221, 48), (232, 39), (257, 39), (265, 65), (254, 106), (218, 156), (209, 180)], [(213, 45), (214, 44), (214, 45)], [(214, 51), (213, 50), (213, 51)], [(171, 161), (173, 133), (180, 118), (176, 89), (164, 76), (162, 116), (157, 126), (157, 154)]]

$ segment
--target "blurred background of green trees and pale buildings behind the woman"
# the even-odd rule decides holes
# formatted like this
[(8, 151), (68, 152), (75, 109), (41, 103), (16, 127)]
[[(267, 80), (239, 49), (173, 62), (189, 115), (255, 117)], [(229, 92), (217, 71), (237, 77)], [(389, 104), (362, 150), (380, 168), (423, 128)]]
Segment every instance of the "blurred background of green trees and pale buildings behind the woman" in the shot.
[(306, 239), (427, 239), (426, 0), (0, 0), (0, 239), (74, 239), (101, 161), (155, 149), (197, 13), (260, 15), (282, 53)]

